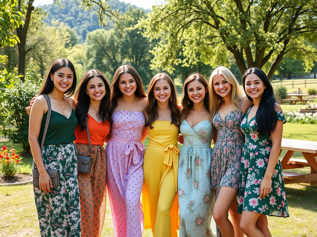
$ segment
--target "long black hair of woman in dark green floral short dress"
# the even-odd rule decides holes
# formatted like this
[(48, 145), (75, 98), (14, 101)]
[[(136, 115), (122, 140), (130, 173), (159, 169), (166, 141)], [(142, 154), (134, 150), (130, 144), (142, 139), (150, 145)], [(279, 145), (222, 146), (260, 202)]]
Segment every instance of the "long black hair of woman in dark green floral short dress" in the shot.
[[(262, 94), (262, 98), (259, 104), (259, 108), (256, 111), (256, 123), (258, 125), (257, 132), (260, 135), (266, 135), (271, 131), (274, 131), (277, 123), (277, 113), (276, 113), (276, 99), (274, 96), (273, 87), (268, 80), (268, 76), (259, 68), (249, 68), (246, 70), (242, 77), (243, 89), (245, 91), (245, 78), (250, 74), (256, 74), (261, 81), (264, 83), (265, 89)], [(247, 93), (246, 93), (247, 94)], [(253, 99), (247, 94), (250, 101)]]

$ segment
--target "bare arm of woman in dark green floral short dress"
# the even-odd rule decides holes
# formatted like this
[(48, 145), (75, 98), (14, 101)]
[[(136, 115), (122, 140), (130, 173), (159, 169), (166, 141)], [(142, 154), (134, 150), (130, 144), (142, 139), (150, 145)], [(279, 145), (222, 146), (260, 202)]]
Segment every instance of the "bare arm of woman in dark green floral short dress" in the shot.
[(260, 198), (268, 196), (271, 192), (272, 175), (281, 151), (282, 134), (283, 121), (277, 120), (276, 128), (271, 132), (272, 148), (268, 158), (268, 167), (260, 184)]

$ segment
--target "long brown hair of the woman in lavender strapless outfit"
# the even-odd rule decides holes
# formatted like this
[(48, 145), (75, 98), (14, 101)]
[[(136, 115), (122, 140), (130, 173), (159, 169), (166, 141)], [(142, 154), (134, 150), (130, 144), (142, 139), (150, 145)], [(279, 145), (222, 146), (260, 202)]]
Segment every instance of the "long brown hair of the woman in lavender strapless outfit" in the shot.
[(111, 118), (111, 115), (115, 108), (118, 106), (118, 99), (122, 96), (122, 92), (119, 88), (119, 77), (123, 73), (129, 73), (133, 76), (137, 83), (137, 88), (135, 90), (135, 95), (139, 97), (146, 97), (145, 90), (143, 88), (142, 80), (138, 74), (138, 72), (130, 65), (121, 65), (117, 68), (113, 75), (112, 83), (111, 83), (111, 96), (110, 102), (111, 107), (109, 109), (108, 117)]

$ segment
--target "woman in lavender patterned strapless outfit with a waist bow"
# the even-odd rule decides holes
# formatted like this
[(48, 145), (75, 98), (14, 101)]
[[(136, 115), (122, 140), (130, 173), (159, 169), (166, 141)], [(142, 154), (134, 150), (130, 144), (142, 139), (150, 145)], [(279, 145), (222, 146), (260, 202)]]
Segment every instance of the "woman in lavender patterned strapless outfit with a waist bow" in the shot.
[(144, 215), (140, 195), (145, 150), (142, 140), (147, 135), (144, 129), (147, 98), (141, 78), (132, 66), (122, 65), (115, 71), (110, 100), (112, 124), (106, 147), (107, 190), (114, 236), (141, 237)]

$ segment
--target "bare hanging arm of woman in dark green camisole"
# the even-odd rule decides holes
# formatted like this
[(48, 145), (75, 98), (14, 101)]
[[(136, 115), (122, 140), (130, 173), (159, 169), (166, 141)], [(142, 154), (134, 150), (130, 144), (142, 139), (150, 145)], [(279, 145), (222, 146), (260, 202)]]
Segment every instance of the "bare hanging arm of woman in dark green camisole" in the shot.
[(40, 189), (45, 192), (50, 192), (52, 180), (46, 172), (42, 159), (42, 151), (38, 142), (43, 114), (48, 110), (47, 100), (44, 96), (39, 96), (35, 99), (30, 111), (29, 120), (29, 144), (36, 167), (39, 170)]

